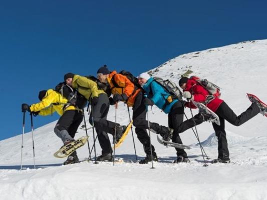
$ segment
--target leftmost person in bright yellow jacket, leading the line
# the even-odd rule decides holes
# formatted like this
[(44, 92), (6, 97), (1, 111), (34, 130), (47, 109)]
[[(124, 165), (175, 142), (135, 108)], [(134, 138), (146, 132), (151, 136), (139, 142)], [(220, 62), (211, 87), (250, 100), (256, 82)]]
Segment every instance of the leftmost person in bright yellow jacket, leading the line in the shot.
[[(28, 105), (22, 104), (23, 111), (29, 111), (42, 116), (57, 112), (61, 117), (59, 118), (54, 132), (60, 137), (66, 145), (74, 140), (75, 133), (83, 120), (83, 113), (76, 106), (68, 104), (68, 99), (61, 95), (60, 92), (54, 89), (42, 90), (39, 92), (39, 103)], [(64, 164), (78, 162), (79, 158), (77, 152), (70, 154)]]

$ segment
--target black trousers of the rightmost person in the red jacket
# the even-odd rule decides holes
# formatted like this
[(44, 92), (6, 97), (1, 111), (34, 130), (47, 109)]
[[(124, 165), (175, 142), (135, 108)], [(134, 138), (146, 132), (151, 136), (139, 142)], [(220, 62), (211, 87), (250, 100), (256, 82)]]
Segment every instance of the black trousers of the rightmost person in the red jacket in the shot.
[(260, 110), (256, 103), (252, 103), (244, 112), (236, 116), (233, 110), (224, 101), (220, 104), (215, 112), (219, 116), (220, 125), (212, 123), (215, 134), (218, 137), (218, 158), (229, 157), (224, 119), (233, 125), (239, 126), (259, 112)]

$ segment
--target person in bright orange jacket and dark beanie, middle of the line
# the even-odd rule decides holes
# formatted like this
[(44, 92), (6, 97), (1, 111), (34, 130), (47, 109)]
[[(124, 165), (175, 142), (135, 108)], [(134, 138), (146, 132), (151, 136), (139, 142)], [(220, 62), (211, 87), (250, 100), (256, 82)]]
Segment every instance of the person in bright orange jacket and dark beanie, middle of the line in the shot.
[[(143, 144), (144, 151), (146, 153), (145, 159), (139, 161), (139, 163), (147, 163), (152, 159), (157, 161), (157, 154), (155, 147), (152, 146), (152, 157), (150, 150), (150, 138), (146, 129), (149, 128), (148, 121), (146, 120), (146, 105), (144, 104), (144, 93), (141, 87), (135, 85), (126, 75), (109, 71), (106, 65), (100, 67), (97, 71), (97, 78), (100, 82), (107, 83), (113, 94), (113, 98), (110, 97), (110, 103), (123, 101), (129, 107), (133, 107), (133, 125), (135, 126), (135, 132), (139, 141)], [(169, 136), (172, 134), (173, 129), (166, 126), (159, 125), (158, 123), (149, 122), (150, 128), (156, 133), (162, 136)]]

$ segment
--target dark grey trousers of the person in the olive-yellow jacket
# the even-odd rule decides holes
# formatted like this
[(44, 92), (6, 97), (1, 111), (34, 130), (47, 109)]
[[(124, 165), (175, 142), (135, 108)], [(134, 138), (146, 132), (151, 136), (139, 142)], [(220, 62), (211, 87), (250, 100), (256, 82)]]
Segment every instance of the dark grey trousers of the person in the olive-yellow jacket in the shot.
[[(102, 154), (112, 153), (111, 143), (107, 133), (115, 134), (116, 123), (107, 120), (109, 111), (109, 98), (106, 93), (99, 94), (98, 102), (92, 105), (89, 122), (92, 123), (94, 118), (94, 126), (96, 128), (99, 144), (102, 148)], [(119, 125), (119, 123), (117, 123)]]

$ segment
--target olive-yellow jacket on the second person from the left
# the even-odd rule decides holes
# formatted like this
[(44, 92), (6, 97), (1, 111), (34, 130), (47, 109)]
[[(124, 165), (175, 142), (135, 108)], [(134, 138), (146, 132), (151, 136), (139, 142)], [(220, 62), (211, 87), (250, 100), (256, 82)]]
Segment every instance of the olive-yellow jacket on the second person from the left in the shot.
[(72, 87), (77, 89), (88, 100), (95, 96), (98, 97), (101, 93), (105, 93), (104, 90), (98, 88), (95, 81), (81, 75), (74, 75)]

